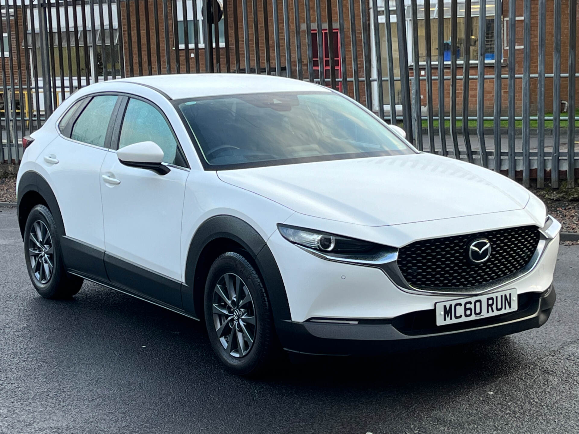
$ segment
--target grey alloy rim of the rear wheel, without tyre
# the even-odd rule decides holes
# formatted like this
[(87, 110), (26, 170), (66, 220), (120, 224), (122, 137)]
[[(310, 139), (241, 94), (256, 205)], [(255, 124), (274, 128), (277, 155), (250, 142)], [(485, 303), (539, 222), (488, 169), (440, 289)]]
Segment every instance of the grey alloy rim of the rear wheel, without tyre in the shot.
[(36, 280), (43, 285), (47, 284), (54, 267), (54, 248), (50, 231), (41, 220), (36, 220), (30, 229), (28, 256)]

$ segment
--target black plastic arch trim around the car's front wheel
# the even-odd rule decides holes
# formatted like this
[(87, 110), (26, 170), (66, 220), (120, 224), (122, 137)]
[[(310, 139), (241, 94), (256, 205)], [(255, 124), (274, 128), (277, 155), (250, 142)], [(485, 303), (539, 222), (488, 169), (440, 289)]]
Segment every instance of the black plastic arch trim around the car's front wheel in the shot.
[(265, 285), (274, 321), (291, 319), (285, 286), (265, 240), (249, 223), (230, 215), (218, 215), (199, 226), (189, 245), (183, 294), (186, 310), (203, 317), (203, 294), (211, 264), (225, 252), (242, 255), (255, 267)]

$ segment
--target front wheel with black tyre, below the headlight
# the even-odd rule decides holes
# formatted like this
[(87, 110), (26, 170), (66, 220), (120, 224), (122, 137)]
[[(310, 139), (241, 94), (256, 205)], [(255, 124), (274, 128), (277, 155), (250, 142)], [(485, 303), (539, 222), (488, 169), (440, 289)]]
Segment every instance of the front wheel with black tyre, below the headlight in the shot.
[[(218, 295), (216, 287), (219, 282), (224, 283), (227, 278), (234, 281), (236, 277), (239, 277), (241, 281), (240, 300), (237, 300), (237, 297), (231, 297), (230, 303), (232, 304), (228, 305), (225, 299)], [(247, 300), (247, 293), (251, 296), (251, 301), (243, 304), (243, 301)], [(214, 301), (216, 301), (216, 308), (222, 309), (215, 315)], [(252, 306), (249, 306), (249, 303)], [(237, 319), (234, 317), (235, 312), (231, 306), (237, 308)], [(239, 253), (223, 253), (211, 265), (205, 285), (204, 307), (211, 346), (229, 372), (243, 376), (257, 376), (269, 370), (278, 361), (280, 351), (267, 293), (254, 267)], [(230, 320), (222, 329), (223, 334), (220, 338), (218, 325), (223, 325), (223, 322), (226, 322), (223, 319), (228, 315), (230, 315)], [(248, 322), (252, 316), (255, 326)], [(237, 340), (239, 339), (237, 338), (238, 332), (241, 334), (243, 344)], [(249, 344), (249, 340), (246, 339), (248, 334), (253, 336), (252, 344)], [(232, 338), (234, 340), (229, 347)], [(225, 347), (226, 344), (228, 347)], [(237, 345), (237, 350), (233, 348), (234, 345)], [(243, 348), (240, 350), (240, 345), (245, 347), (247, 351), (245, 354), (243, 354)]]

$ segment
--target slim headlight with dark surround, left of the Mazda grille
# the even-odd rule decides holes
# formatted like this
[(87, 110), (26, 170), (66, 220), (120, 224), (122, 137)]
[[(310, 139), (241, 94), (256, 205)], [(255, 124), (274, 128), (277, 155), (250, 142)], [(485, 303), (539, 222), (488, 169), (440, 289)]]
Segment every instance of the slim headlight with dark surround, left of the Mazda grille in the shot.
[(366, 253), (376, 249), (372, 242), (354, 240), (301, 227), (277, 225), (281, 235), (294, 244), (327, 253)]

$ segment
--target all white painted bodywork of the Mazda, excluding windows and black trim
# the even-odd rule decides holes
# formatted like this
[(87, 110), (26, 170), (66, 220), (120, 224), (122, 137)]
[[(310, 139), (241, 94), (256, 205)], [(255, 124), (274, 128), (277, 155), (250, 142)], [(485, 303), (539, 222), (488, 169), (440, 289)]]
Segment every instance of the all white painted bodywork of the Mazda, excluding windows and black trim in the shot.
[[(264, 89), (329, 90), (298, 80), (245, 74), (112, 80), (80, 89), (33, 133), (35, 142), (24, 153), (19, 179), (28, 170), (45, 177), (63, 211), (67, 234), (75, 233), (81, 241), (102, 245), (107, 252), (166, 277), (184, 281), (186, 255), (201, 223), (215, 215), (232, 215), (267, 241), (294, 321), (391, 318), (434, 308), (434, 303), (453, 297), (405, 292), (379, 269), (316, 258), (281, 237), (277, 224), (393, 247), (426, 238), (544, 225), (544, 204), (515, 182), (476, 165), (428, 154), (204, 171), (171, 102), (136, 82), (159, 87), (174, 99)], [(121, 164), (118, 155), (123, 150), (117, 153), (71, 141), (64, 149), (56, 132), (58, 117), (76, 98), (97, 91), (135, 94), (155, 102), (173, 126), (190, 170), (172, 167), (160, 176)], [(45, 156), (59, 163), (46, 163)], [(508, 288), (519, 293), (546, 289), (552, 282), (558, 244), (556, 236), (533, 271)]]

